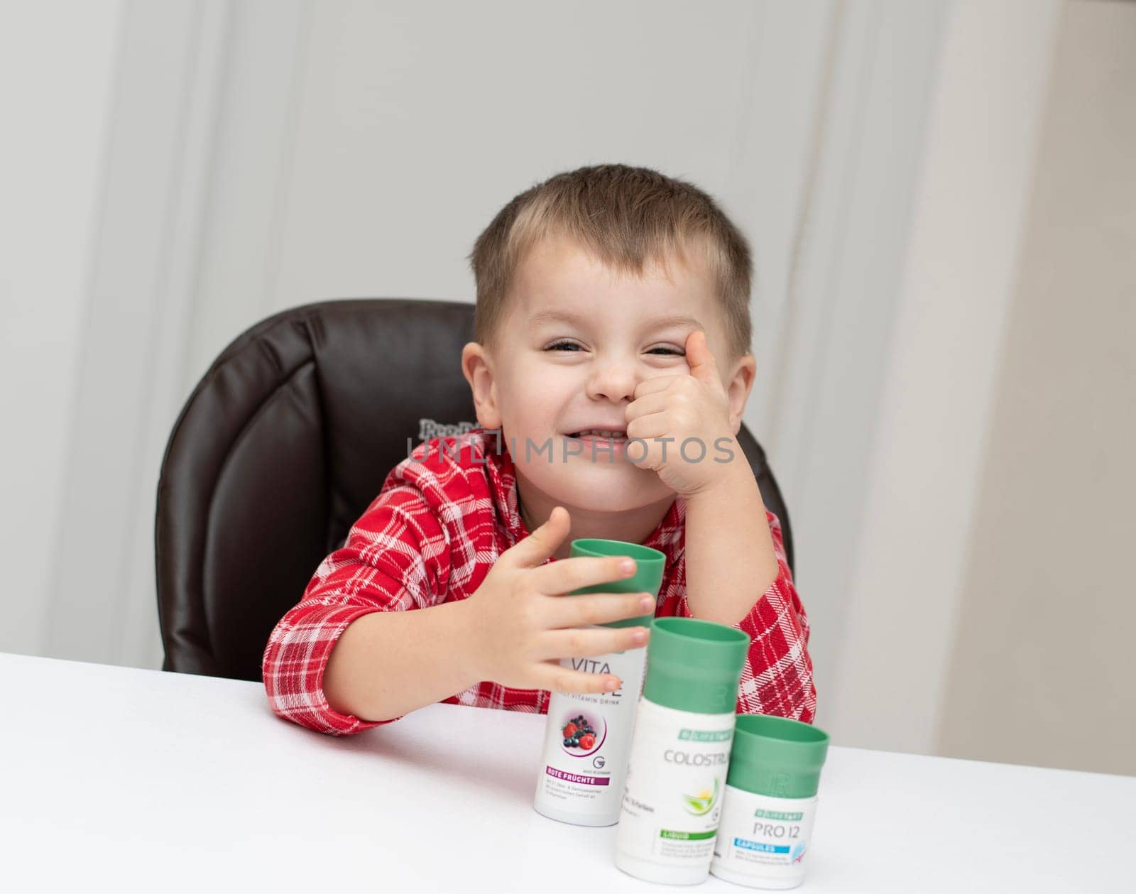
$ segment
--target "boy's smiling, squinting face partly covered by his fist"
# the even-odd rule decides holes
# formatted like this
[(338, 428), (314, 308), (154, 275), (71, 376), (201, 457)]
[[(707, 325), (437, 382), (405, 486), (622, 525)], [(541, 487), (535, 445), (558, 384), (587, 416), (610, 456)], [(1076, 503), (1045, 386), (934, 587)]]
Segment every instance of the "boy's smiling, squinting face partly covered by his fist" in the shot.
[[(567, 442), (590, 428), (626, 432), (636, 385), (690, 374), (685, 343), (695, 329), (707, 334), (737, 433), (753, 358), (727, 366), (722, 315), (701, 259), (690, 269), (675, 260), (667, 273), (649, 267), (642, 278), (619, 276), (570, 240), (545, 240), (517, 273), (493, 348), (466, 345), (462, 368), (477, 420), (501, 429), (526, 504), (595, 512), (669, 504), (674, 491), (621, 449), (613, 459), (596, 449), (593, 459), (591, 442), (579, 454), (573, 451), (580, 444)], [(707, 450), (703, 461), (711, 461), (713, 444)], [(541, 500), (529, 499), (537, 492)]]

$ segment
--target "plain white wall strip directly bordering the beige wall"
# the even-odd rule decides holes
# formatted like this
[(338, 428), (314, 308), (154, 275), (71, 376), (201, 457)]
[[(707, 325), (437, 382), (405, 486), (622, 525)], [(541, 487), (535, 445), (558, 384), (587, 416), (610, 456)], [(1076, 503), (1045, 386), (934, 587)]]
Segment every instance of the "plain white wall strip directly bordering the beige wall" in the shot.
[(830, 715), (843, 744), (936, 745), (1058, 9), (962, 2), (949, 18), (868, 499), (849, 530)]

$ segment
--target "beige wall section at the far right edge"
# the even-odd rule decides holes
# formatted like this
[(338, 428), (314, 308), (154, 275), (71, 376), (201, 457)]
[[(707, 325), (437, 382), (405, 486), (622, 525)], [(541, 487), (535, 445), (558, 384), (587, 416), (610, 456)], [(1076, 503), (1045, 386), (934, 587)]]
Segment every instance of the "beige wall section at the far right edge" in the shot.
[(1136, 774), (1136, 3), (1063, 8), (938, 750)]

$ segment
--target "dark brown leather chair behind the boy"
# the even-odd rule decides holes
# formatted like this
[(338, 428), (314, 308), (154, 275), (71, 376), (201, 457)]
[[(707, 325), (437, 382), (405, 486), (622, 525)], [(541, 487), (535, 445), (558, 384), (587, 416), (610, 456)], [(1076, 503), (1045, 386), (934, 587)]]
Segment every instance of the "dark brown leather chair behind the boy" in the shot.
[[(260, 679), (276, 621), (340, 546), (419, 420), (476, 424), (461, 375), (473, 304), (359, 299), (277, 314), (226, 348), (166, 448), (154, 525), (165, 670)], [(788, 515), (765, 453), (738, 435)]]

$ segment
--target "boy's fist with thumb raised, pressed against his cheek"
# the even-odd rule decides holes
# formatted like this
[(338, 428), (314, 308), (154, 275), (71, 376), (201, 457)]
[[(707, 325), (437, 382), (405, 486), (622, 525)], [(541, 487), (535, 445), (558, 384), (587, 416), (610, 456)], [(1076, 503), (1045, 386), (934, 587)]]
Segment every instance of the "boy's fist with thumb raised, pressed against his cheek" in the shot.
[[(636, 386), (635, 399), (626, 408), (627, 437), (642, 438), (645, 445), (628, 441), (626, 449), (636, 466), (657, 471), (680, 495), (693, 496), (726, 477), (741, 448), (734, 441), (729, 398), (718, 364), (701, 329), (686, 337), (686, 362), (687, 375), (658, 376)], [(719, 449), (716, 443), (721, 437), (728, 443)], [(683, 451), (687, 438), (695, 440)], [(734, 460), (724, 461), (725, 450), (733, 451)], [(683, 458), (684, 452), (691, 461)]]

